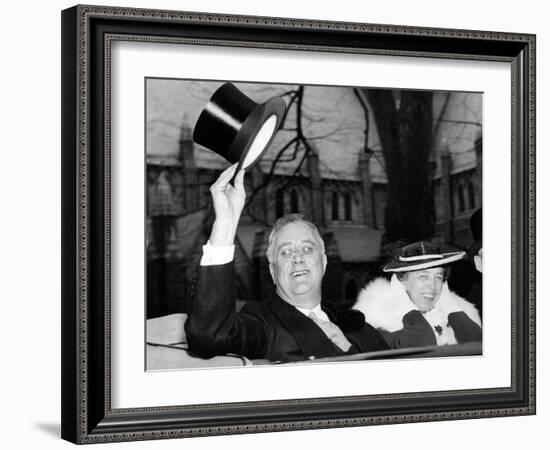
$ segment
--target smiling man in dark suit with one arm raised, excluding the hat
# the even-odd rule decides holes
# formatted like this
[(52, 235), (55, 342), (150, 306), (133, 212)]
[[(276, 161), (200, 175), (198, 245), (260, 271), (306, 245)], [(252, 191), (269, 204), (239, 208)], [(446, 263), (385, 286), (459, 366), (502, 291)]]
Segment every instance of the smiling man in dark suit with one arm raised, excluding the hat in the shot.
[(186, 322), (191, 351), (205, 358), (227, 353), (250, 359), (300, 361), (388, 348), (359, 311), (321, 305), (327, 258), (315, 225), (285, 216), (272, 230), (267, 257), (277, 298), (249, 302), (236, 312), (233, 240), (245, 202), (244, 171), (235, 166), (210, 188), (216, 218), (204, 246)]

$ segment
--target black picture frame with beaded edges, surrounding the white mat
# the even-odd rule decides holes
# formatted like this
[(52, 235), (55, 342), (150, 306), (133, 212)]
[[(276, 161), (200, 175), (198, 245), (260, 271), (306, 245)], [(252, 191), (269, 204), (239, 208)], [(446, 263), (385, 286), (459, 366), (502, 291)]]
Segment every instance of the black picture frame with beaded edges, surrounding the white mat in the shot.
[[(511, 386), (112, 409), (109, 99), (113, 40), (509, 62)], [(535, 414), (534, 35), (82, 5), (62, 12), (64, 439), (84, 444), (527, 414)]]

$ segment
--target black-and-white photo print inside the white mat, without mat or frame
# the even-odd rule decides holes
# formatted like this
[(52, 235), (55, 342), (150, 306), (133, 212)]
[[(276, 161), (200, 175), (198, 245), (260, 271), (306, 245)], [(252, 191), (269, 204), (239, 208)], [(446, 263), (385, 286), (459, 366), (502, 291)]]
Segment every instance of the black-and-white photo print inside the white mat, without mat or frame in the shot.
[(147, 78), (146, 369), (483, 354), (483, 93)]

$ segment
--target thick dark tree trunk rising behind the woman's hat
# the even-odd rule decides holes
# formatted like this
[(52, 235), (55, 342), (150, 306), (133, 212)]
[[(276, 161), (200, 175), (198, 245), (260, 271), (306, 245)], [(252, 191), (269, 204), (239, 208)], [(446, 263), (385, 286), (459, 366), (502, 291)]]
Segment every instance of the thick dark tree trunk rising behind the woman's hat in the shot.
[(397, 108), (391, 90), (363, 89), (374, 116), (386, 161), (386, 241), (409, 242), (434, 234), (430, 151), (433, 95), (401, 91)]

